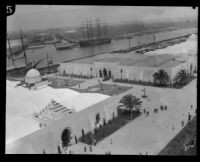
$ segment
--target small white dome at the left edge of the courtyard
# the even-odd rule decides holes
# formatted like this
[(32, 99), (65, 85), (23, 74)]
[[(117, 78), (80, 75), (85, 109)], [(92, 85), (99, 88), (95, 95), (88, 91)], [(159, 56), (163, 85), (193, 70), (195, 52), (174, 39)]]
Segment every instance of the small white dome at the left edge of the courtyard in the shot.
[(36, 69), (31, 69), (26, 73), (25, 82), (26, 83), (37, 83), (41, 82), (42, 78), (40, 76), (40, 72)]

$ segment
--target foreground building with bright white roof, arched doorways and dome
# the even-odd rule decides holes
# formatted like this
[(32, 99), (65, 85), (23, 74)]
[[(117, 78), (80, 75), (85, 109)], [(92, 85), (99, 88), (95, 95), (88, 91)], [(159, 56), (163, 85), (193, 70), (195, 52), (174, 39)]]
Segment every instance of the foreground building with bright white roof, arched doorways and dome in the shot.
[[(42, 82), (36, 69), (27, 72), (26, 84)], [(29, 90), (7, 81), (6, 153), (56, 153), (62, 136), (75, 142), (85, 132), (93, 131), (103, 120), (116, 115), (115, 98), (98, 93), (78, 93), (49, 86)], [(38, 87), (38, 86), (37, 86)], [(103, 107), (103, 108), (102, 108)], [(98, 123), (96, 116), (100, 116)], [(95, 124), (96, 123), (96, 124)]]

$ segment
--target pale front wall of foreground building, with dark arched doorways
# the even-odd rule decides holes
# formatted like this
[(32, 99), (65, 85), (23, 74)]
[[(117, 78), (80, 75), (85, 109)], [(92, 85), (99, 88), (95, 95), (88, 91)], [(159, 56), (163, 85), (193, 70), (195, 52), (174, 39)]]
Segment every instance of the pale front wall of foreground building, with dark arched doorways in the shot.
[(75, 136), (79, 138), (84, 132), (94, 130), (96, 114), (100, 114), (100, 123), (112, 119), (113, 113), (117, 115), (119, 96), (110, 97), (100, 103), (90, 106), (80, 112), (68, 114), (48, 127), (27, 135), (12, 144), (6, 145), (6, 153), (34, 153), (41, 154), (57, 152), (57, 146), (61, 143), (61, 135), (65, 128), (71, 130), (71, 142), (75, 142)]

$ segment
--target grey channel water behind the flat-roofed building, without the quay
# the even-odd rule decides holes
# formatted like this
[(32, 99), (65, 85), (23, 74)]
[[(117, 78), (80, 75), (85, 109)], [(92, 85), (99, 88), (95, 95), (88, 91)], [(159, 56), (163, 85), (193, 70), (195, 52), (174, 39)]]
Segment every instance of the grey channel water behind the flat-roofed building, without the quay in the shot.
[[(157, 41), (164, 40), (168, 38), (178, 37), (179, 33), (180, 35), (187, 34), (187, 33), (194, 33), (197, 32), (197, 28), (190, 28), (190, 29), (180, 29), (180, 30), (174, 30), (174, 31), (167, 31), (162, 33), (157, 33), (156, 38)], [(133, 39), (130, 40), (130, 46), (137, 46), (138, 40), (141, 42), (141, 44), (151, 43), (153, 42), (153, 35), (154, 34), (147, 34), (142, 36), (135, 36)], [(11, 42), (12, 43), (12, 42)], [(109, 53), (114, 50), (119, 49), (125, 49), (129, 47), (129, 40), (112, 40), (110, 44), (103, 44), (93, 47), (93, 54), (101, 54), (101, 53)], [(52, 57), (53, 63), (58, 64), (60, 62), (64, 62), (71, 59), (81, 58), (85, 56), (91, 56), (92, 55), (92, 48), (91, 47), (75, 47), (70, 50), (61, 50), (57, 51), (54, 47), (54, 45), (46, 45), (44, 48), (41, 49), (35, 49), (35, 50), (26, 50), (27, 59), (28, 62), (36, 62), (40, 59), (43, 60), (38, 67), (46, 67), (47, 66), (47, 53), (49, 57)], [(22, 57), (23, 53), (18, 56), (18, 58)], [(21, 64), (24, 63), (24, 58), (18, 59), (15, 61), (15, 64)], [(7, 59), (7, 66), (12, 65), (11, 60)]]

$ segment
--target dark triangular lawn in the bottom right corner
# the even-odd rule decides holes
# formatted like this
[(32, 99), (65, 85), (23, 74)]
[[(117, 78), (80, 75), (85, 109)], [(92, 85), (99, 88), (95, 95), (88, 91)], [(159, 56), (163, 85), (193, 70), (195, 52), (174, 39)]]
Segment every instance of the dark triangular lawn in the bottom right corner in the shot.
[[(158, 155), (196, 155), (196, 117), (175, 136)], [(184, 143), (194, 139), (194, 147), (184, 150)]]

